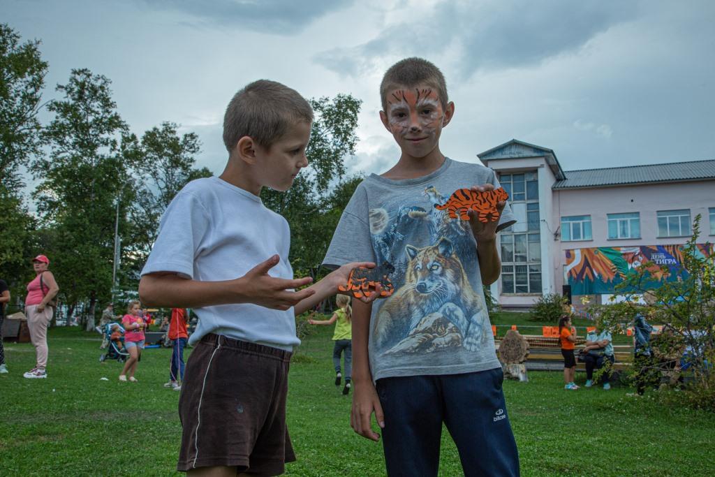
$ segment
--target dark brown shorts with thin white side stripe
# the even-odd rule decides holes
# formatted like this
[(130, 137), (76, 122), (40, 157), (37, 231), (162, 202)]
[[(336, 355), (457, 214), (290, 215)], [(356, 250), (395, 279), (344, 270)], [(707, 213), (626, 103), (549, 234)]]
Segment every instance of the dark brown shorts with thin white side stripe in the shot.
[(179, 398), (182, 441), (177, 470), (235, 466), (277, 476), (295, 454), (285, 426), (292, 353), (204, 336), (192, 351)]

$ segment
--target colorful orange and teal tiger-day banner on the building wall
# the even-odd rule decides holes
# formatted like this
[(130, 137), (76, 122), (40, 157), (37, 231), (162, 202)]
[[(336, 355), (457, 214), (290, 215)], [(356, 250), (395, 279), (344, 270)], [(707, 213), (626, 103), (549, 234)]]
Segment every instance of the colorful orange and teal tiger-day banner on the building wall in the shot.
[[(697, 245), (701, 255), (713, 253), (710, 244)], [(613, 293), (628, 273), (641, 263), (653, 262), (651, 275), (658, 281), (676, 280), (681, 267), (683, 245), (643, 245), (640, 247), (593, 247), (566, 250), (564, 281), (573, 295)], [(662, 266), (668, 270), (661, 270)]]

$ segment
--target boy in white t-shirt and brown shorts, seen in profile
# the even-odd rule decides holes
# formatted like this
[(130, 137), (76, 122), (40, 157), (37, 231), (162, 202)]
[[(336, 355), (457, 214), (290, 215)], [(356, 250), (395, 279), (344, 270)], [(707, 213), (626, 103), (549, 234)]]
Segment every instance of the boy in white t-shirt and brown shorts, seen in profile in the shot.
[(199, 317), (179, 399), (179, 471), (275, 476), (295, 461), (285, 426), (295, 315), (334, 295), (352, 268), (374, 266), (350, 263), (294, 291), (312, 279), (293, 279), (288, 224), (259, 196), (288, 190), (307, 166), (312, 119), (295, 90), (248, 84), (225, 114), (224, 172), (189, 182), (162, 217), (139, 295)]

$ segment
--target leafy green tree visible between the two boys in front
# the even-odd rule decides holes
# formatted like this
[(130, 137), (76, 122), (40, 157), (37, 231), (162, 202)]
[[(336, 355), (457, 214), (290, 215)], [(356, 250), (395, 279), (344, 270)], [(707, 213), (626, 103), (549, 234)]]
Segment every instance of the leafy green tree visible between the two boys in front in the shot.
[[(345, 157), (355, 154), (358, 113), (362, 102), (350, 94), (310, 99), (315, 112), (306, 150), (308, 167), (287, 192), (264, 189), (266, 205), (290, 224), (290, 258), (296, 275), (315, 277), (342, 209), (360, 178), (343, 180)], [(349, 194), (347, 193), (349, 192)]]

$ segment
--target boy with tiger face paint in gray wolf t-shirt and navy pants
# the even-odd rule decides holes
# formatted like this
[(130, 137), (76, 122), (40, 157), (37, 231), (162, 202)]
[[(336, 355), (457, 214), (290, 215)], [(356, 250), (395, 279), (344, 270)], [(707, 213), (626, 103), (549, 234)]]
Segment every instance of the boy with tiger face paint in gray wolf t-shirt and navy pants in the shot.
[(516, 441), (501, 389), (483, 285), (498, 279), (499, 230), (516, 222), (506, 202), (498, 222), (450, 219), (435, 209), (457, 189), (499, 187), (495, 173), (440, 151), (453, 119), (445, 79), (434, 64), (408, 58), (380, 84), (380, 120), (400, 147), (383, 174), (355, 190), (323, 260), (388, 261), (395, 292), (353, 300), (350, 423), (378, 441), (388, 475), (436, 476), (440, 434), (447, 426), (465, 476), (518, 476)]

